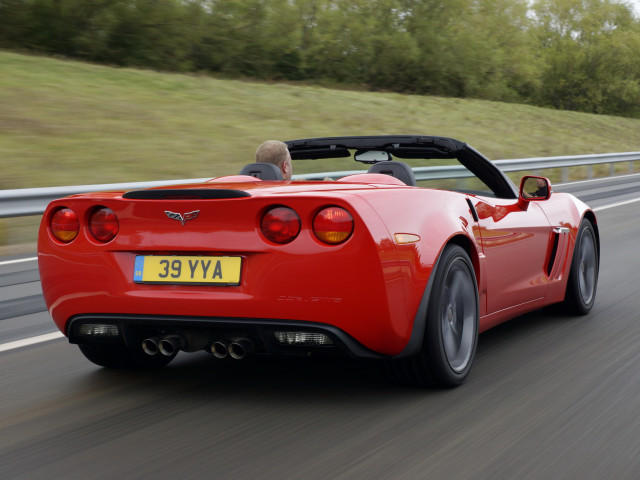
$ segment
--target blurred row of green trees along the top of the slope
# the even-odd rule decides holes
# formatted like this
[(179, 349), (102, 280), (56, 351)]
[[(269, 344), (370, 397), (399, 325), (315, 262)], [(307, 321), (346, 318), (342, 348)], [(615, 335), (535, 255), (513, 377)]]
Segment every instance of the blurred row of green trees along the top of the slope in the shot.
[(640, 117), (623, 0), (0, 0), (0, 47)]

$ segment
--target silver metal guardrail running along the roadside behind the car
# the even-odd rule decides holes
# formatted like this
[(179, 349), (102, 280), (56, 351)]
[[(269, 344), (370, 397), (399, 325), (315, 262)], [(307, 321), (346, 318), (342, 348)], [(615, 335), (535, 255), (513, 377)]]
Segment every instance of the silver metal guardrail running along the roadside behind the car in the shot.
[[(615, 164), (629, 162), (629, 171), (633, 171), (633, 162), (640, 161), (640, 152), (608, 153), (598, 155), (573, 155), (563, 157), (521, 158), (511, 160), (495, 160), (504, 172), (533, 171), (537, 172), (549, 168), (562, 168), (562, 181), (569, 179), (569, 168), (584, 166), (588, 168), (587, 176), (591, 177), (591, 167), (599, 164), (609, 164), (611, 176), (614, 175)], [(433, 180), (443, 178), (464, 178), (471, 173), (461, 165), (440, 167), (417, 167), (413, 171), (416, 180)], [(346, 175), (362, 173), (364, 170), (343, 172), (324, 172), (306, 175), (294, 175), (294, 180), (318, 180), (324, 178), (337, 179)], [(159, 187), (172, 184), (202, 183), (210, 178), (192, 178), (183, 180), (163, 180), (156, 182), (108, 183), (98, 185), (78, 185), (69, 187), (22, 188), (14, 190), (0, 190), (0, 218), (23, 217), (40, 215), (46, 206), (56, 198), (66, 197), (87, 192), (135, 190), (141, 188)]]

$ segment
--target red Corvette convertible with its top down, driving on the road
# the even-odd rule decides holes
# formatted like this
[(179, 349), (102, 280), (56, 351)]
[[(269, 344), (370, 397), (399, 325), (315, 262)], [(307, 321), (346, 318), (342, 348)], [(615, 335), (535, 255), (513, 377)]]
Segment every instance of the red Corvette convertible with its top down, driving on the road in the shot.
[[(347, 353), (385, 360), (403, 382), (451, 387), (467, 377), (479, 332), (550, 304), (591, 309), (596, 217), (547, 179), (518, 189), (443, 137), (286, 143), (293, 160), (370, 168), (284, 181), (251, 164), (202, 184), (52, 202), (40, 278), (69, 341), (112, 368), (161, 367), (180, 350)], [(419, 186), (398, 159), (428, 167)]]

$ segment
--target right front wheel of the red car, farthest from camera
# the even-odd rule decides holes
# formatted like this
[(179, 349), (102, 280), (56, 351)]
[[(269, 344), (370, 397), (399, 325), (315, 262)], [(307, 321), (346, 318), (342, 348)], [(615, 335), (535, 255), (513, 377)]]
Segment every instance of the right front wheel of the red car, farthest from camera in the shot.
[(562, 303), (566, 313), (572, 315), (589, 313), (596, 298), (599, 269), (596, 234), (591, 222), (584, 218), (576, 236), (567, 290)]

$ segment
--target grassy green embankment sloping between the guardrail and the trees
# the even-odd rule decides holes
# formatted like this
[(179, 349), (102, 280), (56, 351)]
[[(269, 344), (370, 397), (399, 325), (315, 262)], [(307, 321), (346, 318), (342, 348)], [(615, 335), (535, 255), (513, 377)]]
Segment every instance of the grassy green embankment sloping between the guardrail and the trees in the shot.
[[(253, 161), (265, 139), (388, 133), (450, 136), (492, 159), (640, 150), (637, 119), (0, 52), (0, 190), (214, 177)], [(354, 168), (352, 161), (294, 165), (295, 173)], [(6, 222), (0, 246), (32, 240), (8, 233)]]

